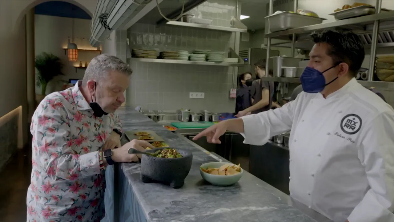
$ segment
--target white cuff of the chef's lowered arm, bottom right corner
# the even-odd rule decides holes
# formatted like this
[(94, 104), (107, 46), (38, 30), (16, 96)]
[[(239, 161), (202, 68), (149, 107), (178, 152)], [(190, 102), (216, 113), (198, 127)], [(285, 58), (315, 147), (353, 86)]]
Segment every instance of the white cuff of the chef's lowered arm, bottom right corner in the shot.
[(368, 191), (348, 217), (349, 222), (392, 222), (394, 214), (383, 207)]

